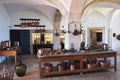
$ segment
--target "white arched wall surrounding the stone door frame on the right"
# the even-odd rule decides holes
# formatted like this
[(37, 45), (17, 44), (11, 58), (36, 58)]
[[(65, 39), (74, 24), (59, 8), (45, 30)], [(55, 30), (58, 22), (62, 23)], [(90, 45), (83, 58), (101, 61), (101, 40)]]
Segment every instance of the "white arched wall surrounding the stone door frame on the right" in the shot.
[(108, 26), (107, 26), (107, 19), (106, 17), (101, 14), (100, 12), (94, 11), (92, 13), (89, 14), (89, 17), (84, 21), (84, 29), (85, 29), (85, 42), (86, 44), (89, 43), (89, 28), (103, 28), (104, 32), (103, 32), (103, 42), (107, 43), (107, 36), (108, 36)]

